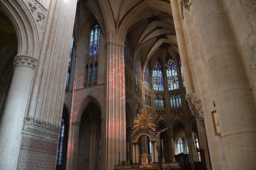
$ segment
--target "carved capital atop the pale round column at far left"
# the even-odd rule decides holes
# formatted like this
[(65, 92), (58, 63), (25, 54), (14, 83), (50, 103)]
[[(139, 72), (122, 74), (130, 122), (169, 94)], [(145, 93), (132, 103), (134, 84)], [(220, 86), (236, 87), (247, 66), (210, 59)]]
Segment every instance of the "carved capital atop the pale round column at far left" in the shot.
[(37, 60), (28, 55), (16, 55), (13, 60), (13, 69), (18, 66), (27, 66), (32, 69), (36, 67)]

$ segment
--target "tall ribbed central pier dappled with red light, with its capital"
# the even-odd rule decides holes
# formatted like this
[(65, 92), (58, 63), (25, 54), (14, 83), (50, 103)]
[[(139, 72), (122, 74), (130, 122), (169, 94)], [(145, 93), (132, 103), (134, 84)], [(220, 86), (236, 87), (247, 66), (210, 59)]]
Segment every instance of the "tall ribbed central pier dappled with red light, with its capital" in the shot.
[(125, 131), (125, 84), (124, 84), (124, 44), (114, 41), (106, 43), (105, 110), (101, 169), (113, 169), (118, 161), (126, 159)]

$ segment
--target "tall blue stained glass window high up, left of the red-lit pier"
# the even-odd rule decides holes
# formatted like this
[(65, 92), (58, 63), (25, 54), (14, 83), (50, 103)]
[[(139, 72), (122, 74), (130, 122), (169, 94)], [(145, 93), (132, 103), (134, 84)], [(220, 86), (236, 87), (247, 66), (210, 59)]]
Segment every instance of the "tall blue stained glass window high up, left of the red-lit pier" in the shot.
[(99, 54), (99, 44), (100, 44), (100, 28), (98, 25), (92, 28), (90, 34), (90, 43), (89, 43), (89, 56)]

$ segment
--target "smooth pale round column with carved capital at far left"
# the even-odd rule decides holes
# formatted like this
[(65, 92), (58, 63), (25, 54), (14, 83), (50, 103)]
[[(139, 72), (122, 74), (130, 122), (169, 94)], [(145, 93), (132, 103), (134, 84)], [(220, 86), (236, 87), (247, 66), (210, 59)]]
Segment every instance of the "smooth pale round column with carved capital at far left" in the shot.
[(36, 59), (28, 55), (14, 57), (14, 73), (0, 126), (0, 167), (16, 169), (20, 152), (22, 119), (33, 83)]

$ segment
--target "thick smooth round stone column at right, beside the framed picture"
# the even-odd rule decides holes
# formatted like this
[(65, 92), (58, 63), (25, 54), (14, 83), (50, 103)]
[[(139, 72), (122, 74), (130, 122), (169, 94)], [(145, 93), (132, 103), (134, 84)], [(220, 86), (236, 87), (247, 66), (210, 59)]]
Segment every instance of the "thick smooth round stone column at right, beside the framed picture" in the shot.
[[(211, 82), (209, 93), (216, 104), (227, 168), (254, 169), (256, 108), (223, 3), (195, 0), (191, 8)], [(234, 148), (239, 148), (239, 154)]]

